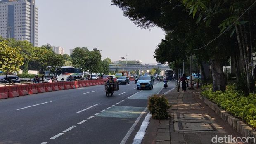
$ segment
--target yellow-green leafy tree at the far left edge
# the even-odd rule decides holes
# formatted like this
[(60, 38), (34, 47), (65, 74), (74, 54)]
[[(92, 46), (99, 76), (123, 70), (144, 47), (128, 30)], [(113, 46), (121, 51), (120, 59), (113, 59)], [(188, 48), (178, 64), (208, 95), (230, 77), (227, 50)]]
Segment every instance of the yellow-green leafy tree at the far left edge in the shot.
[(0, 38), (0, 71), (6, 71), (6, 77), (8, 72), (18, 71), (23, 64), (19, 51), (19, 47), (9, 47), (8, 42)]

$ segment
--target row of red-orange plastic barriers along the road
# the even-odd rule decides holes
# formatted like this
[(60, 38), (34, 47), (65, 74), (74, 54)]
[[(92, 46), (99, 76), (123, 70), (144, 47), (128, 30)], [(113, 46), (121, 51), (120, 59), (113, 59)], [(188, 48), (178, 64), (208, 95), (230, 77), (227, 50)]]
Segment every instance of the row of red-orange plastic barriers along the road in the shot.
[[(0, 99), (7, 99), (42, 92), (75, 89), (79, 87), (104, 85), (106, 81), (107, 80), (79, 80), (71, 82), (34, 83), (26, 85), (5, 86), (0, 87)], [(114, 81), (116, 81), (116, 79), (114, 79)], [(130, 81), (134, 81), (134, 78), (130, 78)]]

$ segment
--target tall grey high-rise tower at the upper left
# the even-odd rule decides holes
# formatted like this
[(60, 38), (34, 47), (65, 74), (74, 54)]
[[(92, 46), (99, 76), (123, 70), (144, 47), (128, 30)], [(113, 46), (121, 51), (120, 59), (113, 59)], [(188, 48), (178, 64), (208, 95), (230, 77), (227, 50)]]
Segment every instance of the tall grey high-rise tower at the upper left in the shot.
[(38, 8), (35, 0), (0, 0), (0, 36), (27, 40), (38, 46)]

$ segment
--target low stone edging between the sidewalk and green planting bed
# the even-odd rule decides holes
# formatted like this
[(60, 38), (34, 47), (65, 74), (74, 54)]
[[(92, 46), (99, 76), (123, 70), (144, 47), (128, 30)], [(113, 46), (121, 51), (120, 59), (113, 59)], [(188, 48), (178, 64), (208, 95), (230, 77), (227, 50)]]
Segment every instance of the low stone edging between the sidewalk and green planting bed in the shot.
[[(224, 111), (222, 108), (220, 108), (217, 104), (211, 102), (209, 99), (207, 99), (204, 96), (201, 96), (200, 94), (197, 94), (199, 96), (199, 99), (201, 99), (206, 105), (208, 105), (215, 113), (217, 113), (220, 118), (223, 119), (228, 125), (230, 125), (234, 130), (236, 130), (238, 133), (243, 135), (243, 137), (254, 137), (256, 139), (256, 131), (253, 130), (249, 125), (245, 124), (242, 120), (239, 120), (238, 118), (235, 118), (227, 111)], [(254, 142), (256, 144), (256, 142)]]

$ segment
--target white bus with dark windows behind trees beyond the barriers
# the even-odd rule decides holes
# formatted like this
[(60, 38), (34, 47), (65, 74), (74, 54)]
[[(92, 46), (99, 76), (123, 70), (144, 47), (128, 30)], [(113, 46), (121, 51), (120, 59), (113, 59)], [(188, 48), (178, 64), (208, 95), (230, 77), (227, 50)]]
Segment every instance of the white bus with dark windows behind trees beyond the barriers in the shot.
[[(48, 66), (47, 68), (50, 68), (50, 66)], [(66, 81), (66, 78), (69, 75), (83, 76), (83, 72), (81, 71), (81, 68), (74, 68), (73, 66), (61, 66), (60, 70), (55, 73), (55, 77), (58, 81)], [(52, 76), (54, 76), (53, 73), (51, 73), (50, 71), (45, 71), (45, 78), (47, 80), (50, 80)]]

